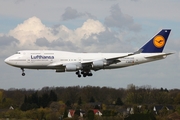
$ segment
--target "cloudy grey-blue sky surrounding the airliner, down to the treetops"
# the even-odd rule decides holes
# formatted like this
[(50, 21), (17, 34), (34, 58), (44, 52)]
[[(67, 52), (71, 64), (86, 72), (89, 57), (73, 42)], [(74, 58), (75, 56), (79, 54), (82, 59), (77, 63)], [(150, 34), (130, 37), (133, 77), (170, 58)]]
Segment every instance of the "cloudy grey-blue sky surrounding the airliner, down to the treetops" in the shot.
[[(180, 85), (180, 1), (178, 0), (0, 0), (0, 88), (41, 89), (56, 86), (128, 84), (152, 88)], [(138, 66), (101, 70), (93, 77), (74, 72), (21, 70), (4, 59), (18, 50), (133, 52), (163, 28), (172, 29), (166, 59)]]

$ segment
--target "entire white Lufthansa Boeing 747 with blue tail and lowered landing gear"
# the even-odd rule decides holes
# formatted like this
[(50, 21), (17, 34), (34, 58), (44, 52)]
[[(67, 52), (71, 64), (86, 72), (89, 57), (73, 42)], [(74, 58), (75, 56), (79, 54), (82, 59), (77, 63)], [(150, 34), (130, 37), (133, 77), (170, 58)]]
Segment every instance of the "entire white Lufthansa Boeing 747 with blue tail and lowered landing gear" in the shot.
[(163, 29), (138, 51), (132, 53), (75, 53), (55, 50), (22, 50), (5, 59), (5, 63), (24, 69), (53, 69), (56, 72), (75, 72), (78, 77), (92, 76), (92, 70), (115, 69), (139, 65), (166, 58), (163, 53), (170, 34)]

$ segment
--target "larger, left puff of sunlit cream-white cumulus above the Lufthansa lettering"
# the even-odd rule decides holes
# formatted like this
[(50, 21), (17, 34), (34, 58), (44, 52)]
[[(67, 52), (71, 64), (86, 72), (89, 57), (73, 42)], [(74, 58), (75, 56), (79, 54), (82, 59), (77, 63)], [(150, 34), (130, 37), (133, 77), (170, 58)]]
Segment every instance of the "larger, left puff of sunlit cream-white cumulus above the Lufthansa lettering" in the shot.
[(39, 18), (31, 17), (11, 30), (9, 35), (18, 39), (20, 46), (33, 46), (38, 38), (44, 37), (49, 41), (55, 39), (50, 31), (51, 28), (42, 24)]

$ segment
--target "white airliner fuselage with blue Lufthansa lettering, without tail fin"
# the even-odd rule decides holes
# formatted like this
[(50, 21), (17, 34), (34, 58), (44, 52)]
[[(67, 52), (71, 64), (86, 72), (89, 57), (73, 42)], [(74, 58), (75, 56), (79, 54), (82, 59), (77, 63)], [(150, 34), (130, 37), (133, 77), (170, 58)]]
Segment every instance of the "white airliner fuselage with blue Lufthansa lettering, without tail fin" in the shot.
[[(65, 72), (67, 64), (86, 64), (92, 61), (115, 58), (130, 53), (74, 53), (54, 50), (24, 50), (8, 57), (5, 62), (11, 66), (27, 69), (55, 69), (57, 72)], [(114, 69), (146, 63), (166, 57), (152, 57), (164, 53), (138, 53), (131, 56), (118, 58), (119, 62), (101, 69)], [(59, 66), (56, 64), (60, 64)], [(58, 71), (59, 70), (59, 71)], [(94, 69), (92, 69), (94, 70)]]

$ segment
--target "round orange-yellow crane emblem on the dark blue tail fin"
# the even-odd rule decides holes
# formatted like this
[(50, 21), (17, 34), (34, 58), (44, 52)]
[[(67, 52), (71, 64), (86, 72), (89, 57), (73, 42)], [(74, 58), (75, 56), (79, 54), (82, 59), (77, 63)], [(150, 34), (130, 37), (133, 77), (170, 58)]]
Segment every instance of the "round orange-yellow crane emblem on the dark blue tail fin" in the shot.
[(157, 35), (156, 37), (154, 37), (153, 44), (154, 44), (157, 48), (162, 48), (162, 47), (165, 45), (165, 39), (164, 39), (164, 37), (161, 36), (161, 35)]

